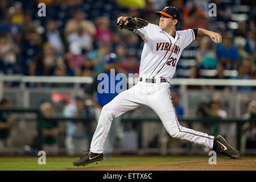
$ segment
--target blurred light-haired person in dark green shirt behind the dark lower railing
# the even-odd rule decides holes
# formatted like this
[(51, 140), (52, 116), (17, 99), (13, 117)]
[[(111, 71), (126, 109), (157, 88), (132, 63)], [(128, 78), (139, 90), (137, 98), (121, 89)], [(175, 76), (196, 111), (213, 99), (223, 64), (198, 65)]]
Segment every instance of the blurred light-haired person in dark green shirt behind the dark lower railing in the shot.
[[(40, 105), (40, 110), (44, 117), (52, 117), (53, 108), (51, 103), (44, 102)], [(43, 150), (47, 154), (57, 154), (59, 146), (57, 144), (57, 136), (59, 135), (58, 122), (53, 121), (43, 121)]]

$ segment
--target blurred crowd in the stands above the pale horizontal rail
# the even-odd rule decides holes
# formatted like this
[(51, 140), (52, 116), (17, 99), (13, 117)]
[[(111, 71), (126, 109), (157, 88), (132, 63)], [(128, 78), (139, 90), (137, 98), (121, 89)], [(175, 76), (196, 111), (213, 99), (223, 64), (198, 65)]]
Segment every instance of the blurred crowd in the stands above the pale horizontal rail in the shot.
[[(38, 16), (40, 2), (46, 3), (46, 16)], [(217, 16), (208, 14), (211, 2)], [(114, 52), (119, 72), (138, 73), (143, 40), (119, 31), (117, 18), (137, 15), (158, 24), (154, 11), (165, 6), (181, 11), (177, 30), (201, 27), (220, 32), (223, 39), (215, 44), (197, 38), (184, 49), (174, 77), (256, 79), (254, 1), (2, 0), (0, 72), (93, 77), (104, 71), (106, 56)]]

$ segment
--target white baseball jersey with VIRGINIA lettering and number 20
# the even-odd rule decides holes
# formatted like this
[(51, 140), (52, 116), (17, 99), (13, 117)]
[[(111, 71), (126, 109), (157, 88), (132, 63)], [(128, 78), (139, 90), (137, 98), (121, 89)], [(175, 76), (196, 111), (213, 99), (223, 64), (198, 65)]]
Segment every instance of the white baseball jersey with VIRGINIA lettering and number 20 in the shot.
[(139, 76), (146, 78), (172, 78), (181, 52), (195, 40), (192, 29), (176, 31), (174, 38), (151, 23), (134, 32), (144, 40)]

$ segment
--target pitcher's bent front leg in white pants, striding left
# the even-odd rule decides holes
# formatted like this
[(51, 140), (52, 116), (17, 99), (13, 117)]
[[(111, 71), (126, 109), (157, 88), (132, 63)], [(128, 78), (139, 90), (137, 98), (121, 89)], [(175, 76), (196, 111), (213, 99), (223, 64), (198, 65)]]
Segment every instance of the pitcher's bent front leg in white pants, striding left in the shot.
[(97, 154), (103, 153), (104, 143), (109, 133), (113, 118), (143, 104), (139, 99), (140, 96), (138, 96), (138, 94), (128, 93), (127, 91), (128, 90), (125, 90), (118, 94), (118, 96), (109, 102), (109, 104), (102, 108), (97, 128), (93, 135), (92, 143), (90, 144), (91, 152)]

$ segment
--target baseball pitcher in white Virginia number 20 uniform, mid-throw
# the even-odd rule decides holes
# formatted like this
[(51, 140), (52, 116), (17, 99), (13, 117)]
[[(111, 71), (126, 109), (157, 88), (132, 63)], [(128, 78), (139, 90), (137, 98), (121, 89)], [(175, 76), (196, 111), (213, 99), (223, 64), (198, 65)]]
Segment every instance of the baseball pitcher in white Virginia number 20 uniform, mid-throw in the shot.
[(117, 19), (120, 29), (133, 31), (144, 40), (138, 84), (118, 94), (102, 108), (90, 150), (81, 158), (74, 160), (74, 166), (101, 162), (104, 142), (113, 118), (142, 105), (149, 106), (155, 111), (172, 137), (200, 144), (216, 151), (217, 154), (233, 159), (240, 157), (238, 151), (221, 135), (214, 138), (181, 126), (171, 100), (170, 79), (174, 76), (183, 49), (197, 37), (203, 36), (209, 36), (213, 42), (220, 43), (221, 35), (203, 28), (176, 31), (175, 28), (181, 18), (176, 7), (168, 6), (155, 13), (160, 15), (159, 26), (134, 16), (121, 16)]

